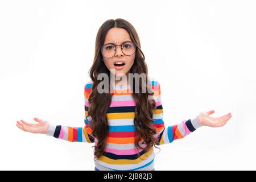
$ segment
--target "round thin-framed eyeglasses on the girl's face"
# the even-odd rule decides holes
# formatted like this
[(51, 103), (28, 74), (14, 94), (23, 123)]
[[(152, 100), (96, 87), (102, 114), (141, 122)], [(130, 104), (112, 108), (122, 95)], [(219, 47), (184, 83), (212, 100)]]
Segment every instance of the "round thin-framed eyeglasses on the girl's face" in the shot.
[(124, 42), (122, 45), (105, 44), (101, 46), (102, 56), (106, 58), (113, 57), (116, 52), (115, 47), (117, 46), (121, 46), (121, 50), (126, 56), (131, 56), (136, 51), (136, 44), (134, 42)]

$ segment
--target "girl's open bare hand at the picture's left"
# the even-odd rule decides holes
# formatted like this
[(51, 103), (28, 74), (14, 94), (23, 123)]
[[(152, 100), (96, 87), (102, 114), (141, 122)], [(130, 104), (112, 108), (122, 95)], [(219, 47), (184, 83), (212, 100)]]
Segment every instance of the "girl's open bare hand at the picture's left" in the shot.
[(47, 134), (47, 130), (49, 127), (49, 122), (44, 121), (43, 119), (34, 118), (34, 120), (38, 123), (28, 123), (24, 120), (17, 121), (16, 126), (23, 131), (27, 131), (30, 133), (41, 133), (41, 134)]

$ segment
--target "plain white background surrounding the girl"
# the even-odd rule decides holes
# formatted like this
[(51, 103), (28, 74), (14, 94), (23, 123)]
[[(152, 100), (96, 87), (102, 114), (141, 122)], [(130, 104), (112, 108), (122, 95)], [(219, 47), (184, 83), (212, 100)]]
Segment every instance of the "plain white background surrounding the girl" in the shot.
[[(149, 75), (162, 89), (164, 122), (231, 112), (160, 146), (156, 170), (255, 167), (255, 1), (0, 1), (0, 169), (94, 170), (92, 144), (19, 130), (33, 117), (84, 125), (84, 84), (98, 28), (136, 28)], [(157, 152), (157, 151), (156, 151)]]

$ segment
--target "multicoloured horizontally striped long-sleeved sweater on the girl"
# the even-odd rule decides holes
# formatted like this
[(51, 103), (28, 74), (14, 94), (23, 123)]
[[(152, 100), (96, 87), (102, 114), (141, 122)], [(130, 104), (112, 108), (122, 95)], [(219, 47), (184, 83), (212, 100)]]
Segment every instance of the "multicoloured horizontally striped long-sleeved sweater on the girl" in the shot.
[[(160, 84), (156, 80), (150, 81), (154, 91), (156, 110), (153, 113), (152, 124), (156, 128), (158, 139), (156, 144), (166, 144), (195, 131), (201, 125), (197, 116), (192, 119), (183, 120), (179, 125), (165, 126), (163, 121), (163, 106), (161, 102)], [(115, 87), (110, 107), (107, 111), (109, 124), (109, 135), (106, 140), (105, 154), (94, 161), (96, 170), (154, 170), (154, 147), (144, 150), (135, 147), (135, 101), (131, 95), (130, 86)], [(123, 92), (126, 91), (126, 92)], [(92, 92), (92, 81), (86, 82), (84, 86), (85, 117), (88, 116), (88, 98)], [(90, 118), (90, 117), (88, 117)], [(97, 145), (97, 138), (93, 137), (90, 122), (85, 118), (84, 127), (69, 127), (52, 125), (48, 127), (47, 135), (55, 138), (68, 140), (70, 142), (88, 142)], [(144, 144), (140, 142), (144, 147)], [(140, 154), (138, 156), (138, 153)]]

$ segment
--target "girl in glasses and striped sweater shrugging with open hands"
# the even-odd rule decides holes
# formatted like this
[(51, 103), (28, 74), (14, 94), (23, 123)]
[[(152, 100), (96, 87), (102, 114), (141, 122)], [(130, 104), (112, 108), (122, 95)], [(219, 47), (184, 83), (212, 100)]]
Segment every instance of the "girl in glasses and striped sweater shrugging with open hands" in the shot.
[(171, 143), (201, 126), (224, 126), (232, 117), (228, 113), (212, 118), (210, 110), (165, 126), (160, 84), (148, 77), (137, 31), (124, 19), (106, 20), (98, 30), (89, 72), (84, 127), (55, 126), (39, 118), (34, 118), (36, 124), (21, 119), (16, 126), (70, 142), (94, 143), (95, 170), (154, 170), (153, 146)]

